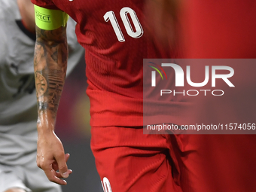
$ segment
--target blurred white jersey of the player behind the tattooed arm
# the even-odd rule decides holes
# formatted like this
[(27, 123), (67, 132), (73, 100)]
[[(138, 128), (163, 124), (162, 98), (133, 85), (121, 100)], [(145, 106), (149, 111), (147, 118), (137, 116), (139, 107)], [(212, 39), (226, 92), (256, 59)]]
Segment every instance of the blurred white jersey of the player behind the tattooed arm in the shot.
[[(35, 36), (23, 26), (17, 0), (0, 0), (0, 13), (0, 163), (20, 165), (36, 151)], [(70, 72), (84, 53), (71, 18), (67, 37)]]

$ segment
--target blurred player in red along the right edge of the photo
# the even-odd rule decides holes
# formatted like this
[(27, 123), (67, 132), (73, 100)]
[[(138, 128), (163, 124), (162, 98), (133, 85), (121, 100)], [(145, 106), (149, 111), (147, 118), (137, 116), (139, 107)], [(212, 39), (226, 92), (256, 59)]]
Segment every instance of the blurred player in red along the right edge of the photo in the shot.
[[(239, 61), (230, 64), (235, 69), (232, 82), (236, 87), (225, 91), (225, 97), (202, 99), (197, 105), (201, 108), (198, 121), (238, 126), (255, 123), (256, 2), (187, 2), (187, 58)], [(256, 135), (246, 134), (248, 130), (245, 135), (229, 133), (190, 136), (200, 144), (197, 156), (190, 159), (197, 162), (190, 174), (196, 191), (256, 191)]]

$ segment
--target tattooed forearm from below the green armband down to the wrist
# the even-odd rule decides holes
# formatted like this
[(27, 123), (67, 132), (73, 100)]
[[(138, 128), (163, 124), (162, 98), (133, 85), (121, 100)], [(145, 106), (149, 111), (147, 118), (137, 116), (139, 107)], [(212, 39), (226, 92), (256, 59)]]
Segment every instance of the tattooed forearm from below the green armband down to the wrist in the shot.
[(47, 117), (55, 120), (66, 78), (68, 59), (66, 27), (51, 31), (36, 27), (36, 34), (34, 68), (38, 118), (47, 114)]

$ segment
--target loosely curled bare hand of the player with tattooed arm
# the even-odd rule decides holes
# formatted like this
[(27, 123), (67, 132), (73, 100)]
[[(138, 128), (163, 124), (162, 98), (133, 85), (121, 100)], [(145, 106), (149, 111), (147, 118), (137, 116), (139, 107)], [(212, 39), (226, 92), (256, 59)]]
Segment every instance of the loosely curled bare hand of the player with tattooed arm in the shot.
[[(67, 184), (65, 180), (72, 173), (66, 164), (69, 154), (65, 154), (62, 142), (52, 131), (50, 133), (38, 134), (38, 152), (36, 163), (44, 170), (50, 181), (57, 184)], [(59, 171), (58, 171), (59, 170)]]

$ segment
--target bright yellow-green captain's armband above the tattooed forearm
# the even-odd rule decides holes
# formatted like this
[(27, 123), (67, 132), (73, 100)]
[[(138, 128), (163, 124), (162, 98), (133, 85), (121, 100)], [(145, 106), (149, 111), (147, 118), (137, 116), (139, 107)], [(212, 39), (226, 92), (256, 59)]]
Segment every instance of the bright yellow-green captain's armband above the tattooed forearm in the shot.
[(69, 20), (69, 15), (60, 10), (52, 10), (35, 7), (35, 25), (40, 29), (54, 30), (61, 26), (66, 26)]

